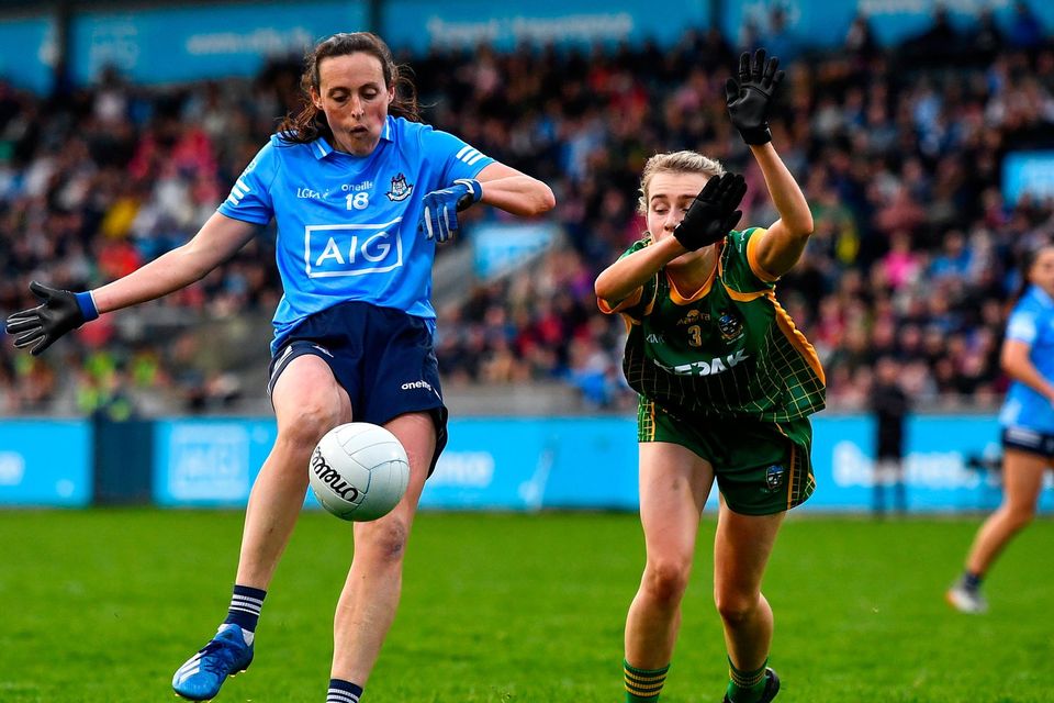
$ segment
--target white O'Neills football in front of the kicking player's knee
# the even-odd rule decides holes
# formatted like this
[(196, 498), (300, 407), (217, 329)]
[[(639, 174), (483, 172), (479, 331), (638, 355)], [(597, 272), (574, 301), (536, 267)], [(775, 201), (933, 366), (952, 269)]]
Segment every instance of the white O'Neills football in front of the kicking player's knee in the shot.
[(341, 520), (366, 522), (386, 515), (403, 499), (410, 461), (388, 429), (350, 422), (318, 440), (307, 478), (323, 507)]

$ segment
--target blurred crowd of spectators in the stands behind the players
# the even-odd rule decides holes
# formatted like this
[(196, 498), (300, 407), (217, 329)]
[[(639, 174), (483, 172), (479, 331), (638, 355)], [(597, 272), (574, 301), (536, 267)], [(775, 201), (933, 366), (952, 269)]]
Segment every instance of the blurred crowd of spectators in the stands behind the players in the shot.
[[(619, 370), (624, 324), (598, 313), (593, 280), (641, 236), (638, 179), (655, 152), (719, 158), (747, 177), (742, 224), (776, 219), (724, 101), (739, 51), (771, 44), (765, 32), (794, 57), (774, 144), (816, 223), (777, 295), (817, 347), (829, 403), (865, 406), (884, 357), (917, 403), (999, 398), (1018, 264), (1054, 235), (1054, 203), (1007, 202), (1001, 189), (1008, 153), (1054, 149), (1054, 44), (1027, 11), (1009, 27), (983, 16), (968, 31), (938, 16), (892, 48), (861, 19), (843, 46), (816, 51), (777, 16), (765, 31), (747, 26), (741, 46), (689, 31), (672, 47), (402, 57), (426, 121), (550, 183), (563, 233), (531, 266), (439, 310), (445, 383), (563, 381), (587, 408), (635, 403)], [(176, 89), (108, 72), (52, 99), (0, 85), (0, 310), (33, 304), (31, 279), (81, 290), (184, 242), (296, 103), (299, 70), (287, 62), (254, 81)], [(464, 238), (473, 221), (501, 216), (468, 211)], [(0, 412), (46, 411), (65, 398), (72, 411), (122, 414), (135, 389), (156, 388), (209, 409), (256, 392), (199, 364), (203, 342), (180, 321), (266, 320), (280, 295), (272, 242), (262, 233), (135, 324), (104, 315), (41, 358), (0, 345)], [(171, 334), (143, 320), (169, 321)]]

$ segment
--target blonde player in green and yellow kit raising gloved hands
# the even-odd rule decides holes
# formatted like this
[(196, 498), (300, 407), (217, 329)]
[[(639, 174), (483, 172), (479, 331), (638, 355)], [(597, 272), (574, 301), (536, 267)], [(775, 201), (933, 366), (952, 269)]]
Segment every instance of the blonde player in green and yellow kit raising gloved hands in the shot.
[(657, 701), (681, 623), (699, 514), (721, 493), (714, 600), (725, 627), (725, 701), (767, 702), (772, 609), (761, 579), (786, 511), (815, 487), (808, 415), (823, 371), (776, 302), (775, 281), (812, 232), (808, 203), (772, 146), (767, 115), (783, 74), (759, 51), (727, 85), (733, 125), (780, 213), (732, 230), (740, 176), (694, 152), (659, 154), (641, 177), (648, 233), (596, 279), (601, 309), (629, 327), (623, 369), (640, 394), (640, 517), (647, 563), (626, 621), (626, 700)]

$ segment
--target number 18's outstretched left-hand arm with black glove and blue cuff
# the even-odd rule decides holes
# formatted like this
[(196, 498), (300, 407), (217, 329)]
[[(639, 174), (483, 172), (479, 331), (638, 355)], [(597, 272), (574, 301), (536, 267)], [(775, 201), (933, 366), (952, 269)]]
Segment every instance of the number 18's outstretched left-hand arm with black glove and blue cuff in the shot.
[(228, 259), (253, 237), (256, 225), (215, 213), (187, 244), (93, 291), (74, 293), (33, 282), (41, 304), (7, 321), (14, 344), (36, 356), (66, 333), (101, 313), (127, 308), (184, 288)]

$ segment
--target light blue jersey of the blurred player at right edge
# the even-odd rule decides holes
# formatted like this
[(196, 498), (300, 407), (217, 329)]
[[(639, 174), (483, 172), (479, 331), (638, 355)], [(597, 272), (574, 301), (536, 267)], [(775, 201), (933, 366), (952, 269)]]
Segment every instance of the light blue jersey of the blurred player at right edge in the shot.
[[(1054, 300), (1041, 288), (1029, 287), (1014, 305), (1007, 323), (1007, 339), (1029, 345), (1029, 360), (1043, 378), (1054, 381)], [(1013, 381), (999, 423), (1054, 434), (1054, 406), (1031, 387)]]

